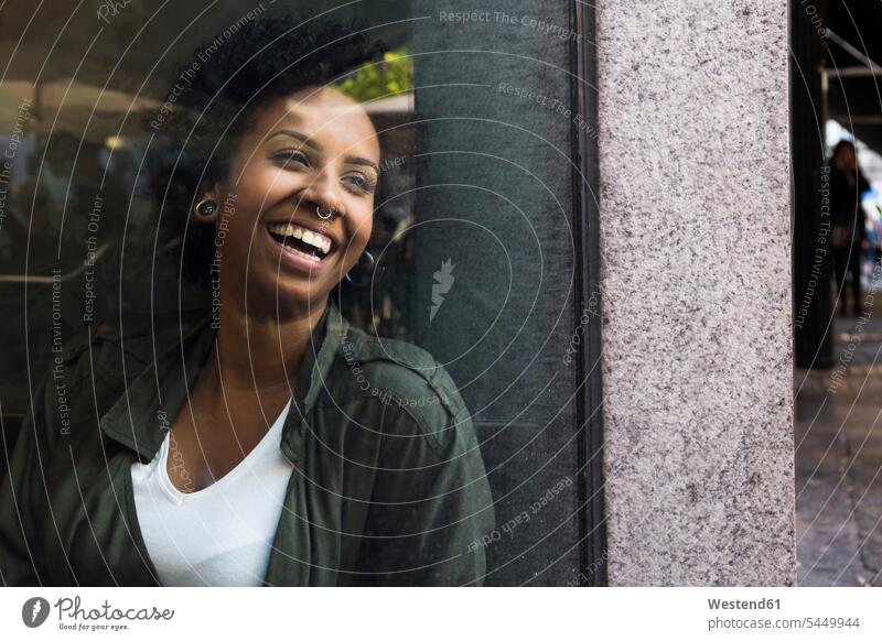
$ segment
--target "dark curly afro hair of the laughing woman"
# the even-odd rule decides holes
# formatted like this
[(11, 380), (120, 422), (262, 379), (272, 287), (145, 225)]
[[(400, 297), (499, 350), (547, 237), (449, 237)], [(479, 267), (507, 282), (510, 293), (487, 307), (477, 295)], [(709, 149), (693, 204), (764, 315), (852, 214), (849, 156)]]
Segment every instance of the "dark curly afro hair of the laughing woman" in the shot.
[(227, 177), (251, 116), (300, 89), (337, 84), (385, 51), (363, 25), (289, 15), (240, 20), (178, 65), (168, 101), (146, 127), (159, 138), (151, 191), (185, 278), (211, 280), (214, 226), (191, 219), (192, 204), (205, 181)]

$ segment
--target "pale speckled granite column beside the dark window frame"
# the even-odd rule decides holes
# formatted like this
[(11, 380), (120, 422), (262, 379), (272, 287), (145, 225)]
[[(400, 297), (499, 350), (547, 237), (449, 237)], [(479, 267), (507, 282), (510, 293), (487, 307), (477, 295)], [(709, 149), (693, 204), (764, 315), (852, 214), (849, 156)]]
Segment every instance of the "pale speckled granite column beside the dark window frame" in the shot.
[(787, 3), (598, 3), (611, 585), (795, 580)]

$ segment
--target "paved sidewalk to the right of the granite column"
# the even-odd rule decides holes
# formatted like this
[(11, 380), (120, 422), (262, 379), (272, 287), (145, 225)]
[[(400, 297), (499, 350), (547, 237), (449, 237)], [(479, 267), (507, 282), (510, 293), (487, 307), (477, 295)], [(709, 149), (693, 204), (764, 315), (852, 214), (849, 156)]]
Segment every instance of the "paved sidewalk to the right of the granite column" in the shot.
[[(880, 296), (875, 296), (880, 300)], [(882, 585), (882, 317), (836, 322), (836, 365), (797, 370), (798, 585)]]

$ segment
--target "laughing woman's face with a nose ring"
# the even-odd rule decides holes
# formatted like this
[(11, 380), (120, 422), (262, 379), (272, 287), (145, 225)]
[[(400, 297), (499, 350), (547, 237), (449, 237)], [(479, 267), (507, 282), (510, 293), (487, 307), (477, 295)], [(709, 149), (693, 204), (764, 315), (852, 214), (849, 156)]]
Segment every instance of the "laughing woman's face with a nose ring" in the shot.
[[(247, 291), (249, 312), (322, 307), (367, 246), (378, 177), (376, 130), (338, 90), (258, 110), (218, 185), (222, 300)], [(323, 220), (318, 207), (335, 214)]]

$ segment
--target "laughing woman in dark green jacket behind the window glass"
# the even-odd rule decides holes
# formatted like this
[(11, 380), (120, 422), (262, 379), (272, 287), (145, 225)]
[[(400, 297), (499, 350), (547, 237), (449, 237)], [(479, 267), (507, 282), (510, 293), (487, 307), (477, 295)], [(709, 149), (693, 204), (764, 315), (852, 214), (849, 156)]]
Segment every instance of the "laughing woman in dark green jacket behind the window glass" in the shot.
[(161, 215), (185, 222), (182, 269), (215, 280), (215, 307), (123, 317), (57, 356), (0, 488), (7, 585), (483, 582), (493, 507), (452, 380), (333, 301), (380, 163), (333, 86), (376, 47), (299, 24), (251, 22), (179, 67), (153, 121), (179, 142)]

